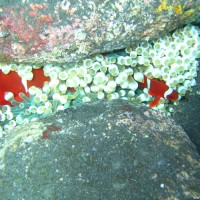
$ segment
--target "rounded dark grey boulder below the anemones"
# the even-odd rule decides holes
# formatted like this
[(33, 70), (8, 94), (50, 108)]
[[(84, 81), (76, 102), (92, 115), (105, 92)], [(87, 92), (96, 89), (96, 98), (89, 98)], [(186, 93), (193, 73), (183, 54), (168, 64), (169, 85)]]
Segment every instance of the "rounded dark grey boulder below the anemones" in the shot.
[(5, 200), (200, 198), (200, 157), (183, 129), (123, 100), (16, 129), (0, 155)]

